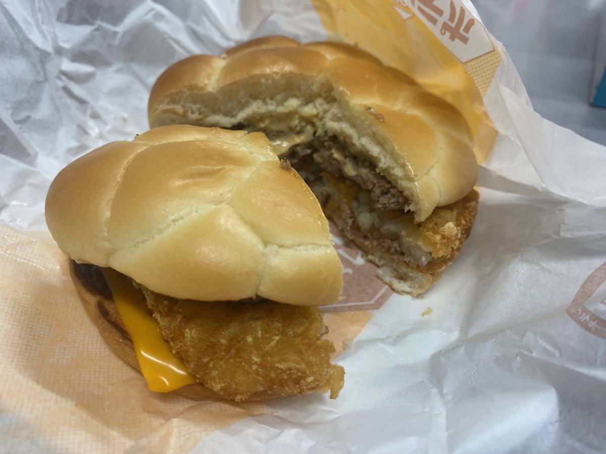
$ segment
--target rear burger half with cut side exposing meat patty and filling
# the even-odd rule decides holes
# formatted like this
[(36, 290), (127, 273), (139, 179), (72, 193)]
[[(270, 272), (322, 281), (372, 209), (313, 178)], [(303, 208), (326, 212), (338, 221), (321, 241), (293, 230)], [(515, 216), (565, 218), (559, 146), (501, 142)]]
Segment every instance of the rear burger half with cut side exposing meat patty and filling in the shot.
[(476, 216), (464, 117), (350, 45), (270, 36), (191, 56), (158, 78), (148, 119), (265, 133), (400, 293), (436, 283)]

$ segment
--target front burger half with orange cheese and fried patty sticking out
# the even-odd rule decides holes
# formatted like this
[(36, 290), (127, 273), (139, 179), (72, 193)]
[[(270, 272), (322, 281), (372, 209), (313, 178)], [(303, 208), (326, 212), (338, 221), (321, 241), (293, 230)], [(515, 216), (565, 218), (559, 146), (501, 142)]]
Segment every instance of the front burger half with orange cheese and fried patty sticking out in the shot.
[(45, 215), (86, 311), (151, 390), (338, 396), (318, 306), (338, 300), (341, 263), (264, 134), (167, 126), (108, 143), (58, 174)]

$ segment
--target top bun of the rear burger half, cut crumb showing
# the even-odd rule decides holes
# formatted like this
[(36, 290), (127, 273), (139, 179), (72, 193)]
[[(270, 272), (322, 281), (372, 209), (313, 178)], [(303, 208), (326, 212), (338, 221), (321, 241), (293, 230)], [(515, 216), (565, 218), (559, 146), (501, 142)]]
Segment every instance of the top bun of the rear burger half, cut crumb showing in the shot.
[(467, 123), (453, 105), (335, 42), (270, 36), (221, 57), (186, 58), (156, 81), (148, 117), (151, 127), (239, 125), (299, 142), (334, 134), (404, 193), (417, 221), (462, 199), (478, 172)]

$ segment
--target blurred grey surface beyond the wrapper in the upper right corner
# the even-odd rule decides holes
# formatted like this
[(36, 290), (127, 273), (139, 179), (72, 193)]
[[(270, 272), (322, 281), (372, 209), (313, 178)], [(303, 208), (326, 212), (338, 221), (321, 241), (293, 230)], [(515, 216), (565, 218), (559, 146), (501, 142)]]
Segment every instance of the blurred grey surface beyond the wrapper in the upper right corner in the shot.
[(472, 2), (486, 28), (505, 45), (534, 110), (606, 145), (606, 108), (589, 104), (606, 0)]

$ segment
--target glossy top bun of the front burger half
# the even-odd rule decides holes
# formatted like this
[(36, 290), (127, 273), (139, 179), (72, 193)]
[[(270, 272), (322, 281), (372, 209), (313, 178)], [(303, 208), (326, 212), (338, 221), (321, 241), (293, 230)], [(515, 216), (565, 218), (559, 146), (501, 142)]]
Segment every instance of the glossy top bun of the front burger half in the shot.
[(48, 228), (76, 262), (175, 298), (335, 302), (341, 262), (301, 177), (262, 133), (155, 128), (65, 167)]

